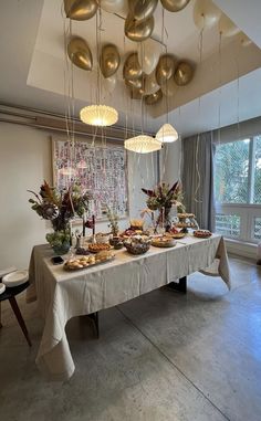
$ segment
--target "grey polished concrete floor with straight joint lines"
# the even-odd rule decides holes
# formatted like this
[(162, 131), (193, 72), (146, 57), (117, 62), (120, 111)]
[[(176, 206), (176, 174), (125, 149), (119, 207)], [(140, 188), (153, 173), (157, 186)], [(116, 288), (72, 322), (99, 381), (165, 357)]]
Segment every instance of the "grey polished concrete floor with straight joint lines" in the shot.
[(1, 421), (260, 421), (261, 267), (231, 259), (232, 291), (189, 276), (188, 294), (161, 288), (69, 323), (76, 370), (50, 383), (34, 359), (42, 331), (20, 299), (32, 349), (4, 303), (0, 330)]

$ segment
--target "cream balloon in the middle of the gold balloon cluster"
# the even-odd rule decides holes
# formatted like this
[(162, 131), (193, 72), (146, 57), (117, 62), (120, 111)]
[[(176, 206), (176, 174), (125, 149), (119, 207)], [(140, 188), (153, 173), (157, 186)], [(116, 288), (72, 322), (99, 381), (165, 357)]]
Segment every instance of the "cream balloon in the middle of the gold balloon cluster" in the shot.
[(160, 44), (148, 39), (140, 43), (138, 49), (138, 62), (144, 73), (150, 74), (158, 63)]

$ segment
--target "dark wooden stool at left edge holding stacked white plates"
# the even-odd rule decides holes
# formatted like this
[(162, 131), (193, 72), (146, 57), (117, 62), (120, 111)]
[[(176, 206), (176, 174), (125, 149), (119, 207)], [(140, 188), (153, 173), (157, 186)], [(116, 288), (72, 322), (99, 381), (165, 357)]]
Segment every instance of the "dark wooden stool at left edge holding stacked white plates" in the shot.
[[(23, 335), (25, 336), (25, 339), (28, 341), (28, 345), (31, 347), (32, 346), (32, 343), (30, 340), (30, 337), (29, 337), (29, 334), (28, 334), (28, 329), (27, 329), (27, 326), (25, 326), (25, 323), (23, 320), (23, 317), (21, 315), (21, 312), (19, 309), (19, 306), (18, 306), (18, 303), (17, 303), (17, 299), (15, 299), (15, 295), (22, 293), (24, 290), (27, 290), (27, 287), (29, 286), (29, 282), (25, 282), (24, 284), (22, 285), (19, 285), (19, 286), (13, 286), (11, 288), (6, 288), (4, 293), (0, 294), (0, 304), (1, 302), (6, 301), (6, 299), (9, 299), (9, 303), (12, 307), (12, 311), (18, 319), (18, 323), (23, 331)], [(1, 311), (1, 307), (0, 307), (0, 311)], [(2, 327), (1, 325), (1, 317), (0, 317), (0, 328)]]

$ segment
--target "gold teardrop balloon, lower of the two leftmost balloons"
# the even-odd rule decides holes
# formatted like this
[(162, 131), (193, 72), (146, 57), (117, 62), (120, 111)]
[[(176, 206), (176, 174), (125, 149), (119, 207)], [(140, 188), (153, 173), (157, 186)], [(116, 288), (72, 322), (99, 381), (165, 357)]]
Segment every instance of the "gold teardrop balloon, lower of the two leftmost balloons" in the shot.
[(73, 36), (67, 44), (67, 55), (77, 67), (91, 71), (93, 56), (86, 41), (81, 36)]

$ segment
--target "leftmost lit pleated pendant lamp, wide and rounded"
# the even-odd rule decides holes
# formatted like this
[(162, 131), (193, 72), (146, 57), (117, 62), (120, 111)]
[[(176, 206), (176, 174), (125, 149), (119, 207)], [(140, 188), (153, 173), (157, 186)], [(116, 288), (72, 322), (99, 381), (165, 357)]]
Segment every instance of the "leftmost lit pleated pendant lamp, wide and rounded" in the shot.
[(112, 126), (118, 120), (118, 113), (107, 105), (88, 105), (81, 109), (80, 118), (91, 126)]

